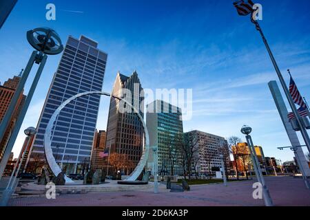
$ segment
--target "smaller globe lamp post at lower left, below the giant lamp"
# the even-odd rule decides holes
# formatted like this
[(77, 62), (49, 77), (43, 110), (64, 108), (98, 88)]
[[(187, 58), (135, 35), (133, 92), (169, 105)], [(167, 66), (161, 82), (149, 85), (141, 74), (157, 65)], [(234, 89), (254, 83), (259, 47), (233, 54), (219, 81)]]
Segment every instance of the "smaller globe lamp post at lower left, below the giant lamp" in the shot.
[(19, 158), (17, 159), (17, 162), (14, 166), (14, 170), (10, 177), (10, 180), (8, 181), (8, 186), (6, 186), (6, 189), (3, 191), (0, 206), (7, 206), (12, 193), (15, 191), (15, 188), (17, 185), (16, 180), (17, 180), (17, 176), (19, 175), (19, 170), (21, 169), (21, 164), (23, 163), (23, 159), (25, 157), (26, 147), (30, 144), (30, 140), (31, 140), (30, 137), (35, 135), (37, 133), (37, 130), (34, 129), (34, 127), (30, 126), (28, 129), (25, 129), (24, 133), (25, 135), (27, 135), (27, 144), (25, 145), (25, 148), (23, 149), (23, 151), (19, 154)]

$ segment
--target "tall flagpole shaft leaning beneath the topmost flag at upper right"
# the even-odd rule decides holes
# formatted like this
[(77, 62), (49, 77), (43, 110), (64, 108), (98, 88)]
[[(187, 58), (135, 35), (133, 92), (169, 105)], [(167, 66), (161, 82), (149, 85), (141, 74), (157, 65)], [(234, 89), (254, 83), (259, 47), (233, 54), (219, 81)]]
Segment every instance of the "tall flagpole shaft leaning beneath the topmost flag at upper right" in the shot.
[(276, 73), (278, 74), (278, 78), (280, 80), (280, 83), (282, 85), (282, 88), (284, 89), (285, 91), (285, 96), (287, 96), (287, 100), (289, 100), (289, 105), (291, 106), (291, 109), (294, 113), (294, 115), (296, 116), (296, 119), (297, 119), (297, 122), (300, 126), (300, 132), (302, 133), (302, 137), (304, 139), (304, 143), (307, 145), (307, 148), (308, 148), (308, 151), (310, 152), (310, 138), (309, 138), (309, 135), (307, 133), (307, 130), (304, 128), (304, 125), (302, 124), (302, 120), (300, 118), (300, 115), (296, 109), (296, 106), (293, 102), (293, 98), (291, 98), (291, 94), (289, 94), (289, 89), (287, 88), (287, 85), (285, 83), (285, 80), (280, 72), (280, 69), (278, 67), (278, 64), (276, 63), (276, 59), (274, 58), (272, 52), (271, 52), (271, 49), (269, 47), (269, 44), (267, 42), (267, 39), (265, 38), (265, 35), (264, 33), (262, 32), (262, 28), (260, 28), (260, 25), (258, 23), (258, 21), (254, 21), (253, 17), (251, 16), (251, 21), (252, 23), (254, 23), (256, 25), (256, 30), (258, 30), (258, 32), (260, 32), (260, 35), (262, 36), (262, 41), (264, 41), (265, 43), (265, 46), (267, 48), (267, 51), (268, 51), (268, 54), (271, 58), (271, 61), (273, 63), (273, 67), (276, 69)]

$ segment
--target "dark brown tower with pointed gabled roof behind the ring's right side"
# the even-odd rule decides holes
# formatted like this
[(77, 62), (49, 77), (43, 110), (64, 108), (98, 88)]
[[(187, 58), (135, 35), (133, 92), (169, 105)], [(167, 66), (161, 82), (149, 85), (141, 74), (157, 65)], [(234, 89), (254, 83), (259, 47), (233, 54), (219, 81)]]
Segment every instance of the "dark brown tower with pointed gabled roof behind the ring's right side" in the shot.
[[(126, 90), (130, 91), (130, 94), (125, 94)], [(143, 117), (140, 106), (143, 106), (144, 96), (140, 96), (141, 94), (143, 94), (143, 88), (136, 71), (129, 77), (117, 73), (112, 95), (127, 100), (131, 98), (132, 106), (139, 109)], [(110, 154), (126, 155), (134, 165), (137, 165), (143, 151), (143, 124), (132, 109), (130, 113), (122, 113), (119, 104), (118, 99), (111, 98), (105, 147), (109, 149)]]

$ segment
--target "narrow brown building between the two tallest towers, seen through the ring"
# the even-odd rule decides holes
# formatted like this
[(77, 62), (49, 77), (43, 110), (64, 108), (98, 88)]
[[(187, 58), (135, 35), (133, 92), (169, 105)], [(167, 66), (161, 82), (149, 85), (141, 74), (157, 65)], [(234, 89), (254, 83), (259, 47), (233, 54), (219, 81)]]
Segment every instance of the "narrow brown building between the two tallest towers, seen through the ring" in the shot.
[(92, 146), (92, 158), (90, 159), (90, 168), (93, 170), (105, 168), (105, 131), (96, 131), (94, 135), (94, 144)]

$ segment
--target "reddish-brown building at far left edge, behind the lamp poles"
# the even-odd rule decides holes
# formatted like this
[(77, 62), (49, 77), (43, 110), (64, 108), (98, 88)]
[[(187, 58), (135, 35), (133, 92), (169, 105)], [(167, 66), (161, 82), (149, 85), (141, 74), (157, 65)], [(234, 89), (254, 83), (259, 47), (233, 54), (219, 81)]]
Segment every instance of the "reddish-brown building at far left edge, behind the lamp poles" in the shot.
[[(14, 78), (8, 79), (5, 83), (3, 83), (3, 86), (0, 85), (0, 123), (4, 118), (4, 115), (6, 115), (6, 112), (8, 111), (8, 107), (10, 106), (10, 102), (14, 96), (17, 86), (19, 85), (20, 79), (21, 74), (19, 76), (14, 76)], [(6, 129), (6, 133), (3, 135), (2, 140), (0, 140), (0, 161), (3, 157), (4, 151), (6, 151), (6, 146), (8, 144), (8, 141), (10, 140), (10, 136), (12, 135), (15, 123), (17, 122), (17, 117), (21, 111), (21, 108), (23, 107), (24, 102), (25, 96), (21, 94), (13, 111), (10, 124)]]

